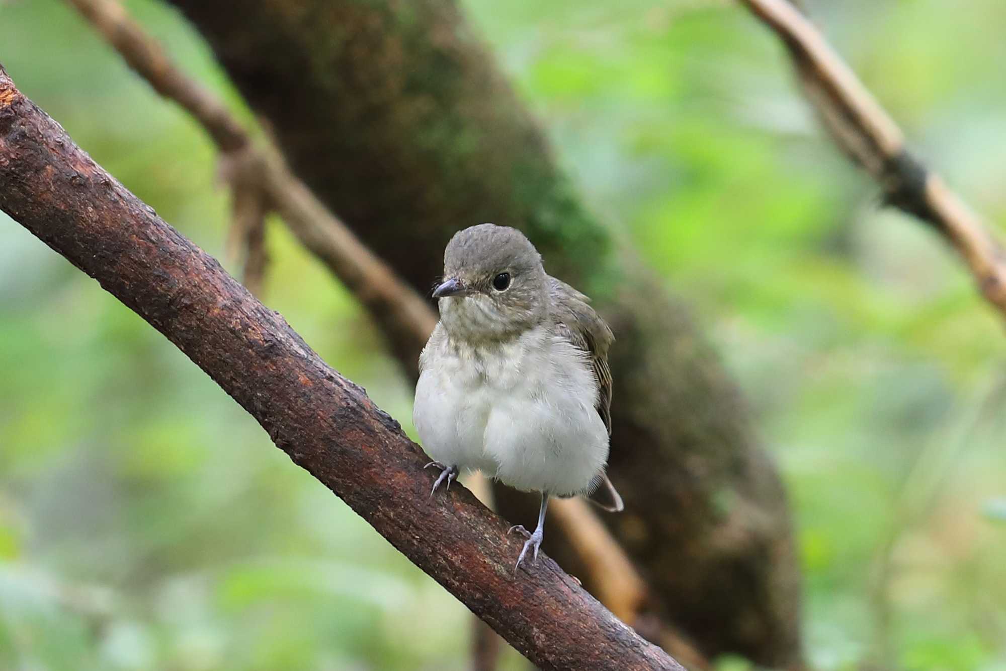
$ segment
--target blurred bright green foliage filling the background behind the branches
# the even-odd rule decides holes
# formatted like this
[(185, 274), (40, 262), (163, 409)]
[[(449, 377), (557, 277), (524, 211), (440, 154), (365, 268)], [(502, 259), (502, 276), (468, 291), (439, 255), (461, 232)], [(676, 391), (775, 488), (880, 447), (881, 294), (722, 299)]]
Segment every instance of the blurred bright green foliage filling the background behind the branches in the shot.
[[(791, 493), (813, 663), (1006, 669), (1006, 333), (950, 251), (877, 207), (738, 6), (464, 4), (583, 196), (743, 387)], [(126, 5), (252, 121), (179, 16)], [(1006, 4), (811, 9), (1001, 226)], [(227, 196), (183, 113), (56, 0), (0, 2), (0, 34), (25, 94), (222, 254)], [(269, 304), (406, 420), (410, 389), (352, 299), (282, 226), (270, 246)], [(0, 216), (0, 668), (462, 669), (468, 626), (172, 346)]]

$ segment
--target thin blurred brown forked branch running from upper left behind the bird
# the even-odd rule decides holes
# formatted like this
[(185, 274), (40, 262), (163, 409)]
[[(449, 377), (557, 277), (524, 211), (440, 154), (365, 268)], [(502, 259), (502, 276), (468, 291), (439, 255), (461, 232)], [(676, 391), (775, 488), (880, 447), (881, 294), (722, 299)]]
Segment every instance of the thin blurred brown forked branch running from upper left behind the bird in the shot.
[[(437, 323), (429, 303), (335, 218), (287, 168), (278, 152), (271, 147), (258, 149), (226, 107), (182, 73), (120, 5), (110, 0), (68, 1), (141, 77), (190, 112), (216, 142), (222, 154), (223, 177), (234, 192), (234, 226), (227, 247), (246, 250), (245, 285), (253, 293), (258, 295), (264, 264), (264, 259), (256, 259), (253, 250), (258, 248), (263, 255), (265, 250), (261, 244), (237, 245), (234, 239), (249, 240), (261, 235), (268, 205), (277, 211), (301, 243), (369, 309), (393, 349), (415, 352), (423, 348)], [(473, 491), (480, 483), (484, 481), (473, 481)], [(491, 492), (488, 488), (483, 489), (485, 492), (479, 498), (488, 505)], [(489, 500), (483, 498), (487, 495)], [(647, 634), (654, 636), (651, 639), (654, 642), (668, 649), (693, 651), (664, 619), (642, 610), (649, 597), (641, 594), (649, 594), (649, 589), (625, 550), (605, 530), (594, 511), (583, 502), (578, 502), (578, 506), (575, 502), (556, 503), (559, 524), (566, 528), (570, 538), (577, 539), (577, 551), (588, 553), (583, 563), (590, 569), (591, 584), (598, 588), (599, 599), (628, 623), (645, 621)], [(633, 605), (640, 610), (634, 611)], [(491, 652), (493, 645), (480, 644), (479, 648)], [(708, 667), (698, 653), (688, 655), (687, 659), (691, 669)]]

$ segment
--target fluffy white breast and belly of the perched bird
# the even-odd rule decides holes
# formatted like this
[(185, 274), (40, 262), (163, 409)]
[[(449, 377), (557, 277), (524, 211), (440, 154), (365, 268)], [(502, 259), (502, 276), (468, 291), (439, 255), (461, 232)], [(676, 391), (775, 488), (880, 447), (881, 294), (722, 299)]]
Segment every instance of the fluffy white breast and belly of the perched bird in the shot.
[(590, 364), (545, 326), (484, 347), (435, 333), (421, 369), (413, 421), (439, 461), (555, 495), (584, 491), (604, 467), (608, 432)]

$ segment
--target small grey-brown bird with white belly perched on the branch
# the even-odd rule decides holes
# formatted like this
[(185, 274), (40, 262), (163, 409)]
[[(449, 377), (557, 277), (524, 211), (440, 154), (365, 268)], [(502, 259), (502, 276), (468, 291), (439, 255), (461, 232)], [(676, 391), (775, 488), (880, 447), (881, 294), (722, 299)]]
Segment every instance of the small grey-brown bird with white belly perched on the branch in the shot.
[(520, 231), (480, 224), (457, 232), (436, 284), (440, 320), (420, 355), (412, 423), (441, 469), (430, 496), (462, 472), (538, 492), (530, 550), (537, 563), (550, 497), (586, 495), (624, 509), (606, 475), (615, 336), (590, 298), (545, 272)]

